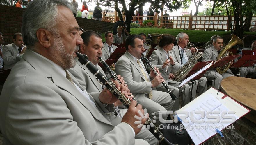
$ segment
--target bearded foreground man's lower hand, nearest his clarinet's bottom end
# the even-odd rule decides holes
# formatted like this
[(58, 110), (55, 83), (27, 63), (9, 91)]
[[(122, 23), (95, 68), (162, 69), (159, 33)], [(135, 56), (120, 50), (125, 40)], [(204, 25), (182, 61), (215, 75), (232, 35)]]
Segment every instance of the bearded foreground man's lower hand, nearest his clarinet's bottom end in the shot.
[[(135, 134), (138, 134), (140, 131), (141, 131), (141, 127), (138, 128), (138, 125), (139, 124), (135, 124), (134, 122), (135, 121), (141, 121), (140, 123), (141, 124), (144, 124), (147, 120), (147, 117), (149, 116), (148, 114), (145, 115), (145, 117), (141, 117), (141, 113), (144, 114), (144, 110), (142, 109), (142, 106), (141, 105), (137, 105), (136, 106), (136, 101), (132, 101), (127, 112), (125, 113), (124, 117), (122, 118), (122, 121), (121, 122), (125, 122), (125, 123), (128, 123), (134, 130)], [(136, 107), (136, 108), (135, 108)], [(139, 113), (139, 111), (141, 113)], [(141, 117), (142, 119), (141, 120), (138, 120), (138, 119), (135, 119), (134, 117), (138, 116), (138, 117)]]

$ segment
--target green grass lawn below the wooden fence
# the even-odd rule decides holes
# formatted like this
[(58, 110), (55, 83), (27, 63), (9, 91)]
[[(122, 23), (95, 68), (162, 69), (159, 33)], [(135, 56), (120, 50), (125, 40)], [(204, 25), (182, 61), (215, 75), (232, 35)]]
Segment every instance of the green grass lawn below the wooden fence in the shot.
[[(161, 34), (171, 34), (177, 36), (180, 32), (187, 33), (189, 35), (189, 41), (191, 42), (207, 42), (211, 39), (213, 35), (219, 35), (225, 37), (225, 35), (230, 35), (230, 32), (224, 31), (201, 31), (201, 30), (182, 30), (182, 29), (162, 29), (162, 28), (131, 28), (131, 34), (145, 33), (146, 35), (150, 33), (161, 33)], [(244, 32), (244, 35), (256, 35), (255, 32)], [(102, 34), (102, 41), (105, 41), (104, 34)]]

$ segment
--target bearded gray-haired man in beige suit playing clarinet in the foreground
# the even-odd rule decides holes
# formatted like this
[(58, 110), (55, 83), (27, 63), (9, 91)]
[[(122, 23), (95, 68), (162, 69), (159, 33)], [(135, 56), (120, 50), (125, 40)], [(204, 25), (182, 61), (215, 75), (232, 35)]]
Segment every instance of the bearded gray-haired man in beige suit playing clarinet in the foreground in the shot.
[[(6, 145), (135, 144), (141, 128), (134, 116), (144, 113), (142, 106), (132, 101), (121, 123), (113, 126), (104, 112), (116, 97), (106, 89), (88, 94), (67, 70), (75, 66), (83, 44), (70, 8), (65, 0), (33, 1), (23, 14), (22, 35), (29, 49), (12, 68), (0, 96)], [(115, 85), (131, 95), (123, 84)], [(143, 117), (141, 123), (145, 121)]]

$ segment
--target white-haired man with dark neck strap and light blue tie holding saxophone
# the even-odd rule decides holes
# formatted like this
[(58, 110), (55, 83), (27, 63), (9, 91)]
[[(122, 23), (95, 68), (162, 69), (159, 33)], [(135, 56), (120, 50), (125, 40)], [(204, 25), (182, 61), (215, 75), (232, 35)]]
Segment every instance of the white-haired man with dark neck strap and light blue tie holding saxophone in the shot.
[[(192, 59), (193, 54), (195, 53), (195, 48), (191, 47), (187, 49), (187, 44), (189, 43), (189, 35), (186, 33), (179, 33), (176, 36), (177, 39), (177, 45), (173, 46), (173, 57), (176, 59), (177, 63), (180, 64), (181, 68), (183, 65), (189, 61), (189, 59)], [(195, 61), (197, 62), (197, 60)], [(193, 63), (195, 63), (193, 62)], [(193, 64), (192, 64), (193, 65)], [(177, 72), (177, 69), (173, 69), (172, 73)], [(198, 86), (198, 96), (204, 93), (207, 90), (207, 79), (205, 77), (201, 77), (199, 80), (194, 81), (194, 85), (192, 83), (189, 83), (189, 87), (192, 89), (193, 85), (193, 90), (192, 90), (192, 97), (195, 99), (196, 96), (196, 90)]]

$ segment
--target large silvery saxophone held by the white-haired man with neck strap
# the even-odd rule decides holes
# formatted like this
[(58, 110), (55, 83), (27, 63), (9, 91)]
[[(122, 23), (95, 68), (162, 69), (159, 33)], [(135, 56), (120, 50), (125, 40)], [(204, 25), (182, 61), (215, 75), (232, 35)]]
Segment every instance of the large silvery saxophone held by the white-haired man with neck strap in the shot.
[(189, 61), (186, 64), (184, 64), (177, 72), (173, 73), (174, 75), (174, 78), (172, 79), (173, 81), (180, 82), (187, 76), (190, 70), (195, 66), (196, 60), (202, 57), (203, 55), (203, 52), (198, 52), (198, 53), (197, 52), (198, 50), (196, 49), (196, 52), (192, 55), (192, 58), (189, 59)]

